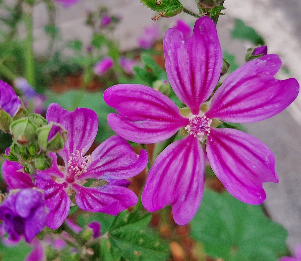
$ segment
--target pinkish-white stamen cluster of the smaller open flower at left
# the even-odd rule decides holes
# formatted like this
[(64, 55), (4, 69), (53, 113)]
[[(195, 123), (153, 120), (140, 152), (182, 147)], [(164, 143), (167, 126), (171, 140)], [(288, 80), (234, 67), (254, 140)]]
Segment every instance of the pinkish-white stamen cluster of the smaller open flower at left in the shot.
[(91, 155), (84, 156), (84, 149), (82, 151), (76, 150), (76, 153), (72, 153), (69, 156), (68, 171), (71, 172), (76, 178), (82, 173), (87, 172), (87, 166), (94, 158)]

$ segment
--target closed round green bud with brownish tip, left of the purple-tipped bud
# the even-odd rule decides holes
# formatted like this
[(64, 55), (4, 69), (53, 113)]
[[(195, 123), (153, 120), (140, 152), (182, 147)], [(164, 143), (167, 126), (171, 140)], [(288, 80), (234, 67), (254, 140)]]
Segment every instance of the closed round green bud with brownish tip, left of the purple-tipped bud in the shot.
[(20, 118), (10, 125), (10, 132), (14, 142), (27, 146), (36, 137), (36, 125), (29, 118)]

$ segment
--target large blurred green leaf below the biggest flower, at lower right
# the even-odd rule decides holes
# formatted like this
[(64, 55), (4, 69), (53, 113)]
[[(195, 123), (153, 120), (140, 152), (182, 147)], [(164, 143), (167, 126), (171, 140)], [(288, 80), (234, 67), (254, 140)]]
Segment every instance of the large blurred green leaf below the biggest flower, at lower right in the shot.
[(191, 221), (191, 237), (210, 256), (225, 261), (276, 261), (286, 251), (287, 232), (265, 217), (260, 206), (205, 190)]

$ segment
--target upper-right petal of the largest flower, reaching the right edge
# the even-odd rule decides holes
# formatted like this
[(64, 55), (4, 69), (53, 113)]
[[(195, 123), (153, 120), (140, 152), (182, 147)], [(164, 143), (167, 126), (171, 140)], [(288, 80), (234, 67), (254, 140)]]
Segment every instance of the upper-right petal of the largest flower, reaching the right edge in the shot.
[(206, 116), (230, 122), (254, 122), (283, 111), (297, 97), (296, 79), (277, 80), (281, 60), (264, 55), (231, 73), (217, 89)]

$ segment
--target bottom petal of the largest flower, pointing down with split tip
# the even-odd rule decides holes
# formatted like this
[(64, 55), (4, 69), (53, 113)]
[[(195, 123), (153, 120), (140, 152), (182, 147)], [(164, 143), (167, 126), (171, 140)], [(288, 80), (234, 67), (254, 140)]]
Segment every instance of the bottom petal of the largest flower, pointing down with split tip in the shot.
[(188, 223), (197, 209), (204, 190), (203, 149), (192, 135), (163, 150), (151, 167), (142, 192), (142, 203), (148, 211), (172, 204), (175, 222)]

